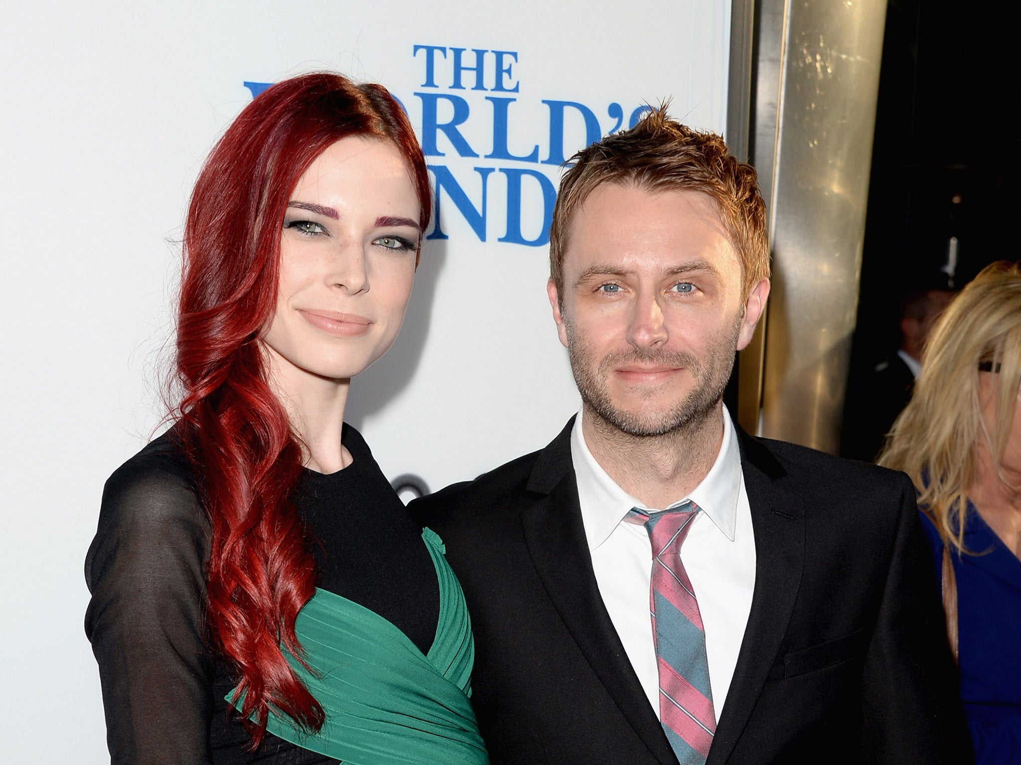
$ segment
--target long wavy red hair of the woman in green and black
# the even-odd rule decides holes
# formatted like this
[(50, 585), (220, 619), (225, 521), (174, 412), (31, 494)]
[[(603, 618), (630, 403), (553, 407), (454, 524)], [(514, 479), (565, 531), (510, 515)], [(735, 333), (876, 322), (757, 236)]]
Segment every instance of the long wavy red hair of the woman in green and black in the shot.
[(284, 654), (301, 656), (294, 620), (317, 574), (290, 500), (301, 449), (268, 384), (258, 337), (277, 303), (289, 197), (312, 161), (350, 136), (401, 151), (425, 231), (429, 178), (407, 116), (382, 86), (325, 72), (281, 82), (245, 107), (206, 159), (185, 224), (176, 431), (212, 527), (210, 639), (237, 671), (253, 748), (271, 710), (306, 729), (324, 721)]

